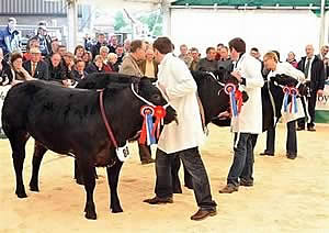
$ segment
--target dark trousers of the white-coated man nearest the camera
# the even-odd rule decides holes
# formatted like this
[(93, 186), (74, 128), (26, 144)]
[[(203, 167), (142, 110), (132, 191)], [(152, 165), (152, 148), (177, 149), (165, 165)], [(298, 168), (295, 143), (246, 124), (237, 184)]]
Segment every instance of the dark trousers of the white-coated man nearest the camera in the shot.
[(156, 195), (159, 198), (172, 197), (172, 177), (171, 165), (174, 156), (179, 156), (189, 174), (192, 176), (194, 196), (197, 206), (202, 210), (215, 210), (216, 202), (212, 199), (211, 186), (206, 169), (201, 159), (197, 147), (177, 152), (174, 154), (166, 154), (161, 149), (157, 149), (156, 157)]

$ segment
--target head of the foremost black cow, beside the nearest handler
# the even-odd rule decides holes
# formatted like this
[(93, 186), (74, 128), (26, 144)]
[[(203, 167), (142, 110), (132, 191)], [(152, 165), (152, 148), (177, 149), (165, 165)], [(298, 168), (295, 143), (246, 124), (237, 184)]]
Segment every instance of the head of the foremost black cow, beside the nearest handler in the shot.
[(168, 101), (162, 96), (160, 89), (149, 78), (141, 78), (138, 82), (138, 95), (152, 106), (166, 107), (164, 124), (177, 121), (175, 110), (168, 104)]

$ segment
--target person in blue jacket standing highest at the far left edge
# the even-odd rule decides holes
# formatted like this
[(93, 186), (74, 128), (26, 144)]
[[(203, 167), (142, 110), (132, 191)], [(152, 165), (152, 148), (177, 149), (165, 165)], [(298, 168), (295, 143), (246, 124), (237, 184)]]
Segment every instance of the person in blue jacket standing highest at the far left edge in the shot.
[(16, 20), (14, 18), (9, 18), (8, 25), (4, 30), (0, 31), (0, 47), (3, 51), (4, 57), (13, 52), (21, 52), (20, 33), (15, 26)]

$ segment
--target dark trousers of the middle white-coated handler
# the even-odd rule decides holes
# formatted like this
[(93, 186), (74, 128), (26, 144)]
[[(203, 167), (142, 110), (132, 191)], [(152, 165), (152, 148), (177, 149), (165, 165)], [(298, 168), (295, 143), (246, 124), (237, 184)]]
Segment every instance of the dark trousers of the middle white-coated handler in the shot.
[(237, 147), (235, 148), (234, 163), (229, 169), (227, 184), (239, 186), (239, 178), (253, 180), (253, 148), (257, 142), (257, 134), (240, 133)]

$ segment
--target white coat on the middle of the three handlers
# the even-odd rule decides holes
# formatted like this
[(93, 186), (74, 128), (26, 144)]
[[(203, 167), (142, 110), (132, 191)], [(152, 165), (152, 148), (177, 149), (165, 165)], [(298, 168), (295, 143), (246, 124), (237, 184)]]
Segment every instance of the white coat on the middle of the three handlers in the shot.
[(237, 120), (231, 121), (232, 132), (259, 134), (262, 132), (262, 98), (261, 88), (264, 80), (261, 74), (261, 63), (254, 57), (243, 54), (237, 62), (235, 70), (246, 78), (243, 90), (248, 101), (243, 103)]

